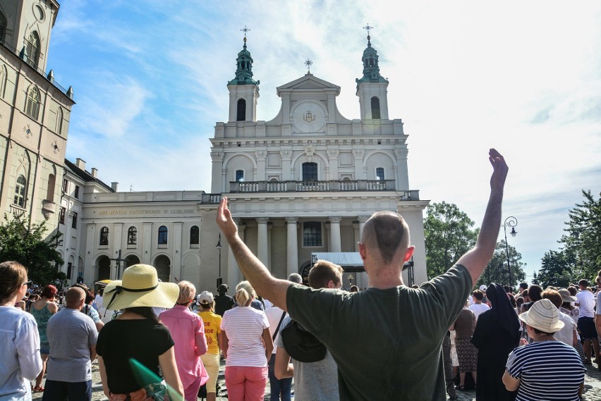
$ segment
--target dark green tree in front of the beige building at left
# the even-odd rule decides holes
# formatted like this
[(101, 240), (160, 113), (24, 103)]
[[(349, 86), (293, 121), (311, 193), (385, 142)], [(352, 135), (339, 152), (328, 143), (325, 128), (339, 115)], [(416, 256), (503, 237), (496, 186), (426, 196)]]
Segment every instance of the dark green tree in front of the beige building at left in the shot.
[(65, 273), (56, 266), (64, 263), (56, 251), (61, 233), (47, 236), (46, 223), (32, 223), (30, 217), (4, 215), (0, 224), (0, 261), (18, 261), (28, 269), (28, 277), (35, 283), (46, 285), (65, 283)]

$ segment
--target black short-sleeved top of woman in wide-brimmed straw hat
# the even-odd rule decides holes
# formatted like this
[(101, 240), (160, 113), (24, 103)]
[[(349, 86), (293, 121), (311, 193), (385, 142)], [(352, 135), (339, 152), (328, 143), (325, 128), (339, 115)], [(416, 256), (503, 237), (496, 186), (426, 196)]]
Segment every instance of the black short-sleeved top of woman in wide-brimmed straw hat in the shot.
[(98, 333), (96, 351), (107, 369), (111, 393), (131, 393), (152, 383), (150, 380), (136, 381), (129, 359), (135, 359), (160, 376), (159, 355), (173, 346), (169, 329), (149, 319), (115, 319), (105, 324)]

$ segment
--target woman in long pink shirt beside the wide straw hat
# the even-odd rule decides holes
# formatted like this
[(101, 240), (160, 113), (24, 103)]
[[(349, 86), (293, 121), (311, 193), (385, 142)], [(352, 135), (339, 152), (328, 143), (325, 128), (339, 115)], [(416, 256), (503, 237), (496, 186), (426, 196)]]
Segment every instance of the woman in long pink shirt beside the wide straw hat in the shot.
[(188, 309), (196, 295), (193, 283), (180, 281), (178, 287), (176, 306), (161, 312), (159, 319), (169, 328), (175, 341), (177, 370), (186, 401), (196, 401), (198, 389), (209, 378), (200, 360), (200, 356), (207, 352), (205, 324), (198, 314)]

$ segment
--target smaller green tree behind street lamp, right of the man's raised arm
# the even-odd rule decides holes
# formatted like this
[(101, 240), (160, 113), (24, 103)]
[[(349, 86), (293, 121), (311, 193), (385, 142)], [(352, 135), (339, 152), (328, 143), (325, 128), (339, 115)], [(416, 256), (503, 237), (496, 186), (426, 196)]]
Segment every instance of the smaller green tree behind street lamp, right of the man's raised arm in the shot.
[(522, 255), (516, 251), (515, 247), (509, 245), (509, 266), (511, 266), (511, 283), (509, 283), (509, 269), (507, 269), (507, 252), (505, 249), (505, 240), (497, 242), (494, 248), (492, 259), (488, 262), (484, 272), (478, 278), (478, 285), (488, 285), (490, 283), (499, 283), (509, 285), (514, 288), (516, 284), (526, 279), (526, 273), (523, 267), (526, 266), (521, 260)]

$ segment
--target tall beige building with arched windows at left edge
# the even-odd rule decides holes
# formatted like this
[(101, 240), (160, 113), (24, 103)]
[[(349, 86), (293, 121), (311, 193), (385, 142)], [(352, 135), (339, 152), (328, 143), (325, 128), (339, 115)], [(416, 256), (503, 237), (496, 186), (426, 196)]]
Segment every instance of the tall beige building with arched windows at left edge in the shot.
[(73, 89), (47, 72), (58, 13), (56, 0), (0, 1), (0, 214), (49, 230), (71, 218), (59, 203)]

